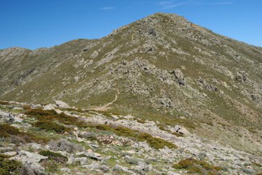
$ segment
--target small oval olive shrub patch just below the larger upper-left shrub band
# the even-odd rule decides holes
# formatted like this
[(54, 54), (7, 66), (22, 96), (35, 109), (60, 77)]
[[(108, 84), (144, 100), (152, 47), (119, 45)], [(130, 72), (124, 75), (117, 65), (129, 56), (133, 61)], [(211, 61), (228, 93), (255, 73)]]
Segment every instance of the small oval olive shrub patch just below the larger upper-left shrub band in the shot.
[(54, 131), (59, 134), (63, 134), (65, 132), (70, 132), (69, 127), (65, 127), (63, 125), (59, 125), (57, 123), (54, 123), (53, 121), (48, 121), (45, 119), (41, 119), (40, 121), (37, 121), (34, 123), (35, 127), (39, 127), (40, 130), (46, 130), (46, 131)]

